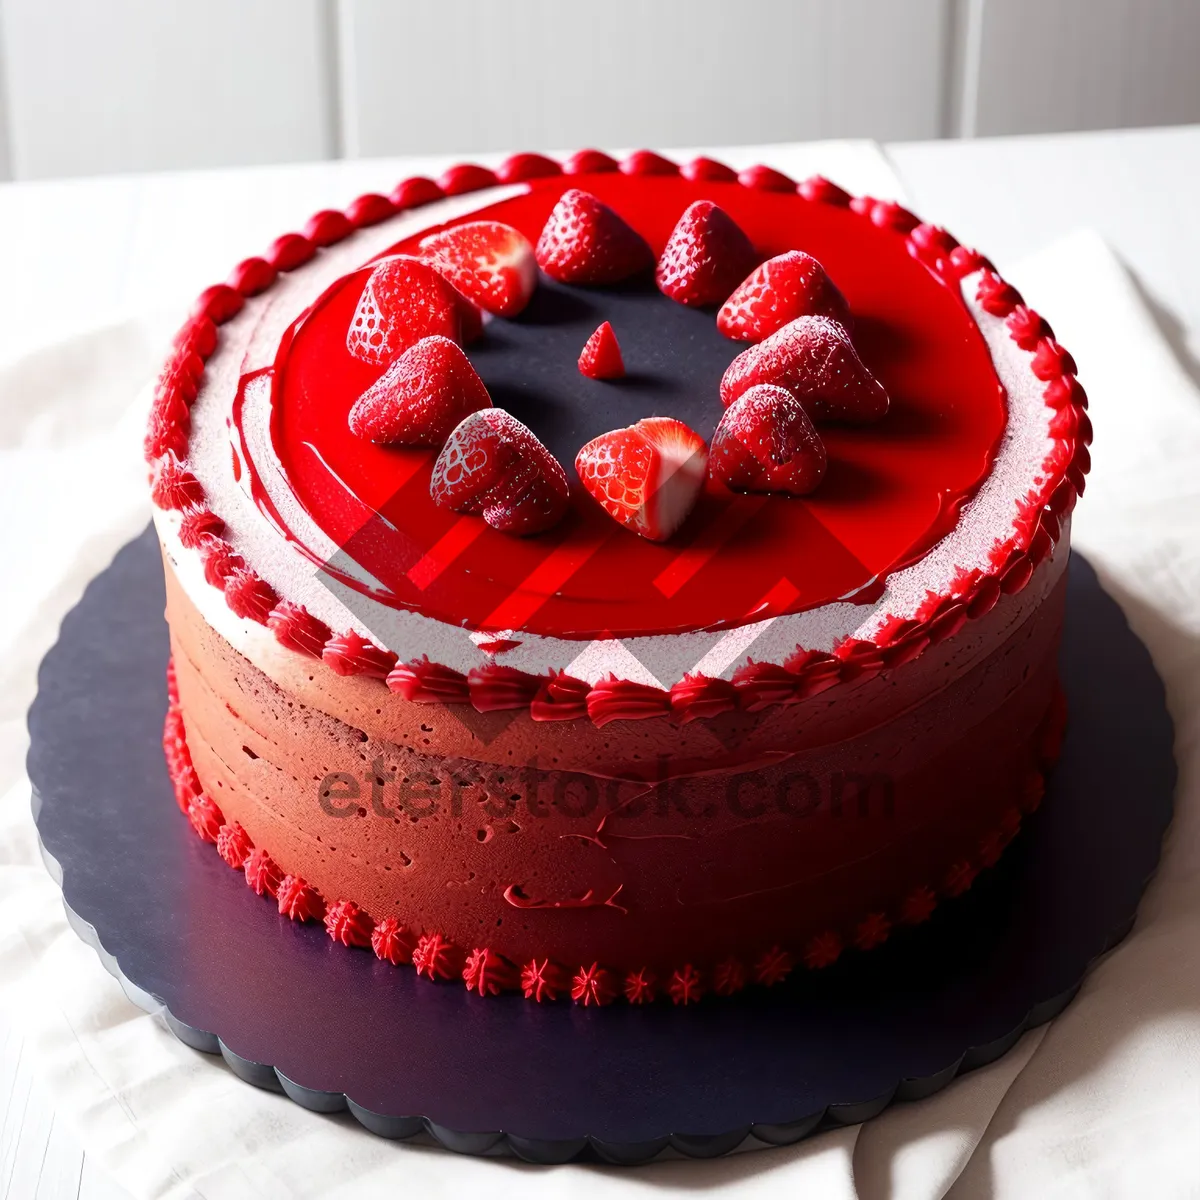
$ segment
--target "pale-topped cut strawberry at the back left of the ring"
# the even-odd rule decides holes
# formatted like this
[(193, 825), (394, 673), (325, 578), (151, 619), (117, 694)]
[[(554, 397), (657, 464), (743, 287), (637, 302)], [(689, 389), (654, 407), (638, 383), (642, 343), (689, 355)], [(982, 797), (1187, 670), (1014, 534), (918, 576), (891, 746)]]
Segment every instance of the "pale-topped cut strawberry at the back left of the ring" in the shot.
[(421, 253), (469, 300), (515, 317), (538, 286), (533, 246), (499, 221), (469, 221), (421, 239)]

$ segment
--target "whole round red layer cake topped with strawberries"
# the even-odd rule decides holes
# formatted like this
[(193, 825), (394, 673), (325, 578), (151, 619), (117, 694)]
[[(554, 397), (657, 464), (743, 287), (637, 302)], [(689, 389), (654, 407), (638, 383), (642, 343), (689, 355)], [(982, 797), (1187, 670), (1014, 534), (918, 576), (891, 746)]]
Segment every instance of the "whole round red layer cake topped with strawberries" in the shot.
[[(503, 269), (455, 272), (466, 226)], [(485, 995), (868, 950), (1042, 796), (1085, 406), (986, 259), (822, 179), (518, 155), (317, 214), (155, 389), (180, 806), (286, 917)]]

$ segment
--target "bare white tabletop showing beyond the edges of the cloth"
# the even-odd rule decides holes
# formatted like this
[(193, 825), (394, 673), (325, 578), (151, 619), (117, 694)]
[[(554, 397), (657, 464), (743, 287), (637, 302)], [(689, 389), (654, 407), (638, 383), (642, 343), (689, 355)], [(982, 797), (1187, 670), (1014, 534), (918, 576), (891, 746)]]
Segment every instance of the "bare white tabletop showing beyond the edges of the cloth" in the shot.
[[(914, 211), (1001, 268), (1081, 226), (1099, 230), (1200, 380), (1200, 126), (886, 151)], [(169, 320), (289, 221), (299, 226), (317, 208), (437, 167), (410, 160), (380, 172), (379, 163), (348, 162), (2, 185), (0, 361), (131, 313)], [(239, 203), (247, 190), (252, 211)], [(122, 1194), (55, 1123), (19, 1038), (0, 1028), (0, 1196)]]

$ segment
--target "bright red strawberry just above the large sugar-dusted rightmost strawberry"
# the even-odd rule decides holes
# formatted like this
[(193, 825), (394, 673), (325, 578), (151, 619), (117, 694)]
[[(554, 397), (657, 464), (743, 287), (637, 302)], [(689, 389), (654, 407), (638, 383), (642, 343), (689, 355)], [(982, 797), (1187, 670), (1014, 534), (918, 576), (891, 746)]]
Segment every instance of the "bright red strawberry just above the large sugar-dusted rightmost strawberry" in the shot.
[(721, 305), (716, 328), (738, 342), (761, 342), (797, 317), (832, 317), (852, 329), (846, 298), (802, 250), (767, 259)]

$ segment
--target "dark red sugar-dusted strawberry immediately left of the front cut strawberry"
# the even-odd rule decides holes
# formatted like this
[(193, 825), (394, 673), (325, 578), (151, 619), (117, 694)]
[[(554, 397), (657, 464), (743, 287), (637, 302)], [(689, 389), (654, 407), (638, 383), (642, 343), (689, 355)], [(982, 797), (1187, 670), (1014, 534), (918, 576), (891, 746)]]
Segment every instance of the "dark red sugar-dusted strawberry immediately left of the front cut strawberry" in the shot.
[(456, 512), (478, 512), (504, 533), (541, 533), (566, 511), (566, 472), (503, 408), (481, 408), (442, 448), (430, 496)]

